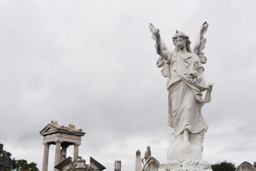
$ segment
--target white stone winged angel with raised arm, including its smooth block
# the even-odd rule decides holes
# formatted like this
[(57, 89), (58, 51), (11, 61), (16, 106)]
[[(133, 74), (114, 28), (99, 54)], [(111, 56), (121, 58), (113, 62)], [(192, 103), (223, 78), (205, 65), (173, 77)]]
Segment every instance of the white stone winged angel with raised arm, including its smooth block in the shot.
[[(150, 24), (152, 38), (156, 41), (156, 51), (160, 55), (157, 67), (167, 77), (168, 123), (173, 127), (175, 136), (167, 150), (167, 160), (202, 160), (204, 133), (208, 125), (201, 108), (210, 102), (212, 82), (207, 83), (202, 64), (206, 57), (204, 34), (208, 23), (205, 22), (196, 38), (195, 46), (190, 49), (189, 37), (176, 31), (173, 38), (174, 51), (168, 50), (160, 36), (159, 29)], [(204, 100), (202, 92), (206, 91)]]

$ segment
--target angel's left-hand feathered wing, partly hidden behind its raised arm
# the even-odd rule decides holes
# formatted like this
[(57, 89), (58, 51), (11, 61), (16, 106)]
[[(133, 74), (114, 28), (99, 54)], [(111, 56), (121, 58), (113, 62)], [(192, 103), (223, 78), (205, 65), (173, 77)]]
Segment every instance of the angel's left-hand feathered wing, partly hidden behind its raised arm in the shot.
[[(156, 28), (153, 24), (150, 23), (150, 31), (151, 31), (151, 33), (152, 33), (152, 38), (153, 38), (153, 40), (155, 40), (155, 41), (156, 41), (156, 36), (154, 35), (154, 33), (155, 33), (156, 30), (157, 30), (157, 28)], [(161, 38), (161, 45), (162, 45), (162, 47), (163, 47), (163, 50), (168, 51), (168, 48), (167, 48), (167, 46), (165, 45), (165, 42), (163, 41), (162, 38)], [(155, 48), (156, 48), (156, 46), (157, 46), (157, 45), (155, 45)], [(165, 60), (162, 56), (159, 56), (159, 58), (157, 59), (157, 67), (159, 67), (159, 68), (163, 67), (163, 68), (161, 69), (161, 73), (162, 73), (162, 75), (163, 75), (164, 77), (167, 77), (167, 76), (169, 75), (169, 67), (167, 67), (167, 66), (165, 65), (165, 63), (166, 63), (166, 60)]]

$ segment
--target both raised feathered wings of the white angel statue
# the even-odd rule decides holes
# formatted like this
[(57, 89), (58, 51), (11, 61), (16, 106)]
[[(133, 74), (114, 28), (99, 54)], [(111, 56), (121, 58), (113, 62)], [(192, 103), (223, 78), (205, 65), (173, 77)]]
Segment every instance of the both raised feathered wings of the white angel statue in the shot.
[[(204, 56), (204, 53), (202, 52), (204, 47), (205, 47), (205, 43), (206, 43), (206, 38), (204, 38), (204, 34), (205, 32), (207, 31), (207, 28), (208, 28), (208, 23), (205, 22), (202, 27), (200, 28), (199, 30), (199, 33), (196, 37), (196, 41), (195, 41), (195, 45), (194, 45), (194, 48), (192, 49), (192, 51), (198, 55), (201, 63), (206, 63), (206, 60), (207, 58)], [(157, 28), (155, 26), (153, 26), (151, 23), (150, 23), (150, 31), (151, 33), (153, 34), (152, 35), (152, 38), (154, 40), (156, 40), (156, 37), (154, 35), (155, 31), (157, 30)], [(161, 38), (161, 45), (162, 45), (162, 48), (163, 50), (165, 51), (168, 51), (168, 48), (167, 46), (165, 45), (163, 39)], [(167, 73), (165, 72), (165, 61), (164, 61), (164, 58), (162, 56), (159, 56), (158, 60), (157, 60), (157, 67), (162, 68), (161, 72), (163, 74), (164, 77), (167, 77)]]

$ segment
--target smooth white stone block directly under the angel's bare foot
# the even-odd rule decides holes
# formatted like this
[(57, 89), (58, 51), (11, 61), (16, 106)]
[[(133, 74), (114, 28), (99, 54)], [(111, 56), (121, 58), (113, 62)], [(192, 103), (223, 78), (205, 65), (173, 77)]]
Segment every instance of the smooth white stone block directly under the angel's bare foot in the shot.
[(176, 137), (167, 149), (167, 160), (202, 160), (204, 135), (189, 134), (190, 145), (185, 146), (183, 134)]

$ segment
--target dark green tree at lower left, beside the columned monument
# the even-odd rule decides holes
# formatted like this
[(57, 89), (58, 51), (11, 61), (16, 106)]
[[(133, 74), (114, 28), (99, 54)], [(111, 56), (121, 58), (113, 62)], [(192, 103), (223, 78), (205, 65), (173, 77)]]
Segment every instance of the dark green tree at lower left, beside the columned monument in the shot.
[[(9, 152), (4, 151), (8, 157), (11, 157), (12, 154)], [(20, 171), (20, 170), (30, 170), (30, 171), (39, 171), (39, 169), (36, 167), (36, 163), (31, 162), (28, 163), (27, 160), (21, 159), (16, 160), (15, 158), (11, 161), (11, 167), (7, 168), (6, 171)]]

